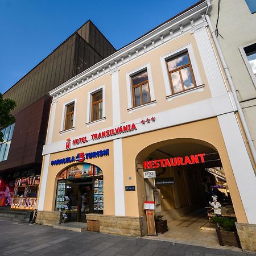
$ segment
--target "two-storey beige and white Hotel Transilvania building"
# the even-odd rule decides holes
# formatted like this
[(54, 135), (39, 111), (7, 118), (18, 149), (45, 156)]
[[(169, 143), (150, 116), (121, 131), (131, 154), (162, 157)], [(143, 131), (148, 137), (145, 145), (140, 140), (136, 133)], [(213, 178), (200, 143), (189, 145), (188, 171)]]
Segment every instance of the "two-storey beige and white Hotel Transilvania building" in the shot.
[[(226, 214), (256, 224), (254, 170), (208, 11), (198, 2), (49, 92), (39, 224), (86, 218), (100, 232), (143, 236), (144, 201), (171, 221), (209, 206), (216, 185)], [(156, 179), (144, 179), (152, 169)]]

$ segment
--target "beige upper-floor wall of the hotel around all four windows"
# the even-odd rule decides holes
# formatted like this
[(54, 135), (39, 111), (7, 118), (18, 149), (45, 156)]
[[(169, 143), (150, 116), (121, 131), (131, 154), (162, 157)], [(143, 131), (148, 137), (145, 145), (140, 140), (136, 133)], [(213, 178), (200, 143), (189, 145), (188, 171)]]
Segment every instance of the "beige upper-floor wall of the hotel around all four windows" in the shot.
[[(173, 98), (171, 101), (166, 100), (166, 88), (164, 86), (163, 80), (163, 71), (162, 65), (160, 63), (160, 57), (175, 51), (181, 47), (184, 47), (191, 43), (193, 48), (193, 53), (195, 55), (197, 67), (199, 69), (200, 77), (202, 83), (205, 85), (203, 91), (193, 92), (184, 94), (182, 97)], [(142, 108), (129, 113), (127, 111), (128, 102), (127, 102), (127, 81), (126, 74), (142, 67), (143, 65), (150, 64), (151, 75), (154, 84), (154, 93), (156, 98), (156, 105), (150, 106), (148, 108)], [(193, 67), (192, 67), (193, 68)], [(167, 70), (166, 70), (167, 72)], [(154, 113), (163, 112), (168, 109), (179, 108), (180, 106), (189, 105), (193, 102), (205, 100), (210, 98), (210, 89), (207, 81), (207, 77), (204, 73), (204, 67), (201, 62), (200, 54), (197, 48), (195, 41), (195, 36), (190, 33), (186, 33), (183, 36), (180, 36), (177, 39), (172, 40), (163, 44), (161, 47), (157, 47), (154, 50), (145, 53), (142, 56), (139, 56), (137, 59), (129, 61), (125, 65), (122, 65), (118, 71), (118, 80), (119, 80), (119, 98), (120, 98), (120, 113), (121, 113), (121, 123), (129, 122), (130, 120), (152, 115)], [(105, 85), (105, 111), (106, 111), (106, 120), (104, 122), (96, 122), (91, 126), (85, 126), (86, 123), (86, 113), (88, 106), (88, 92), (97, 89), (101, 85)], [(199, 85), (199, 84), (197, 84)], [(67, 133), (60, 134), (62, 120), (63, 120), (63, 106), (66, 102), (77, 100), (76, 103), (76, 121), (75, 121), (75, 130), (68, 131)], [(112, 126), (113, 123), (113, 110), (112, 110), (112, 75), (110, 72), (106, 73), (104, 76), (99, 77), (96, 80), (88, 82), (84, 86), (73, 90), (63, 97), (60, 97), (57, 100), (56, 111), (55, 111), (55, 120), (53, 125), (52, 133), (52, 142), (62, 141), (70, 137), (78, 137), (84, 133), (93, 133), (96, 130), (102, 130), (105, 127)]]

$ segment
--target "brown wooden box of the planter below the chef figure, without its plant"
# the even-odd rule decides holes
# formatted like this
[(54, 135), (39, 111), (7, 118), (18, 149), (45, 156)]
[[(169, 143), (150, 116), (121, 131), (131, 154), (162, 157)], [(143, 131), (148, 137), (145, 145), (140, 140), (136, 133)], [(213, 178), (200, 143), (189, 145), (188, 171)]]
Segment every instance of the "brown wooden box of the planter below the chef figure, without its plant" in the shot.
[(241, 248), (237, 232), (216, 229), (218, 242), (220, 245), (234, 246)]

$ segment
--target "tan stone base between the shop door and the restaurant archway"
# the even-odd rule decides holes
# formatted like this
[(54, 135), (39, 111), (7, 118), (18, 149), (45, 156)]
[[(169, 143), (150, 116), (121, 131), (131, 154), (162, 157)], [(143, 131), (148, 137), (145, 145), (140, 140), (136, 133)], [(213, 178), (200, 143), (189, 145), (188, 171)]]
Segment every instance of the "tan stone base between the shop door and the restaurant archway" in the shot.
[(89, 213), (86, 220), (100, 221), (100, 232), (121, 236), (142, 237), (146, 234), (146, 217), (123, 217)]

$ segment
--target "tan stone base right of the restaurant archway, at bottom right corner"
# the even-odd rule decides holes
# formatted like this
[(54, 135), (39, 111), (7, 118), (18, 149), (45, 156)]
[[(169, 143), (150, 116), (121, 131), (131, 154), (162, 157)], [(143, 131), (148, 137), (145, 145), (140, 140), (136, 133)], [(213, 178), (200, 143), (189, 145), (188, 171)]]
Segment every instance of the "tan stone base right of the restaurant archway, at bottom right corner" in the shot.
[(242, 249), (245, 251), (256, 252), (256, 225), (237, 223), (237, 233), (241, 242)]

